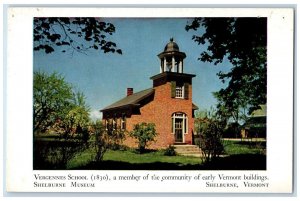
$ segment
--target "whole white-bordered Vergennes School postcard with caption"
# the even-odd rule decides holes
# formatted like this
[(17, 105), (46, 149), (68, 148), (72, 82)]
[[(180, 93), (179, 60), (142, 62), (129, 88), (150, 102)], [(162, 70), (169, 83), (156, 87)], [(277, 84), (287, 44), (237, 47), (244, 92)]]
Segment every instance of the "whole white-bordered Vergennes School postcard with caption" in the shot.
[(292, 8), (7, 11), (7, 192), (293, 193)]

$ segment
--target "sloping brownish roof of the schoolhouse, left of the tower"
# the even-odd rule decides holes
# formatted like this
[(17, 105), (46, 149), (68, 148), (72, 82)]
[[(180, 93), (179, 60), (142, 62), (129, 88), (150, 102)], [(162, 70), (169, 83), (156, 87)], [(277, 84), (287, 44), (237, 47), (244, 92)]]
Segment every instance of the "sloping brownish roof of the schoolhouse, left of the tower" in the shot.
[(126, 96), (125, 98), (122, 98), (121, 100), (103, 108), (102, 111), (105, 110), (111, 110), (111, 109), (115, 109), (115, 108), (121, 108), (121, 107), (126, 107), (126, 106), (138, 106), (139, 102), (141, 100), (143, 100), (144, 98), (149, 97), (150, 95), (152, 95), (154, 93), (154, 89), (150, 88), (150, 89), (145, 89), (143, 91), (134, 93), (130, 96)]

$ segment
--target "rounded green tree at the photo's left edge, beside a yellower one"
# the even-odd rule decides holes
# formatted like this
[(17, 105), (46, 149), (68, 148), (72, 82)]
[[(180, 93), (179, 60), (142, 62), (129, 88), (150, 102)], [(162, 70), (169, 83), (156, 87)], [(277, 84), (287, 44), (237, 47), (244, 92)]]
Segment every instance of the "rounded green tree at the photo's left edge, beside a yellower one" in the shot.
[(34, 72), (33, 131), (44, 132), (65, 118), (72, 108), (73, 91), (64, 78), (53, 73)]

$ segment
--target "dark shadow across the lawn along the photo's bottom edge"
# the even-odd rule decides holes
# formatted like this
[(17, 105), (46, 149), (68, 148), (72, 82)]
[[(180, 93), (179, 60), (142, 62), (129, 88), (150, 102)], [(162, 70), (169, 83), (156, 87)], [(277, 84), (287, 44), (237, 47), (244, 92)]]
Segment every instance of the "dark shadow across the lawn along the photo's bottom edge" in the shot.
[(208, 164), (181, 163), (128, 163), (120, 161), (91, 162), (76, 170), (266, 170), (266, 156), (259, 154), (237, 154), (218, 158)]

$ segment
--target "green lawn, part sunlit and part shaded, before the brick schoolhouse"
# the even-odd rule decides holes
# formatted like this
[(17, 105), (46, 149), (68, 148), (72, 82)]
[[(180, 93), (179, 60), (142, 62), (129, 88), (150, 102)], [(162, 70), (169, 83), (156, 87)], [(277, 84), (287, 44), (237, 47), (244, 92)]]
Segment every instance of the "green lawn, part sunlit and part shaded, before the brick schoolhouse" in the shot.
[[(40, 139), (41, 140), (41, 139)], [(43, 138), (42, 142), (54, 142)], [(56, 144), (56, 143), (55, 143)], [(209, 164), (200, 158), (165, 156), (163, 150), (139, 154), (133, 149), (108, 150), (101, 163), (93, 162), (92, 149), (76, 154), (67, 169), (76, 170), (266, 170), (266, 142), (224, 140), (224, 155)], [(50, 145), (49, 145), (50, 146)], [(57, 146), (61, 146), (58, 145)], [(47, 166), (49, 169), (54, 167)]]

